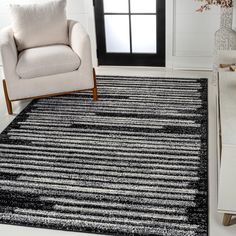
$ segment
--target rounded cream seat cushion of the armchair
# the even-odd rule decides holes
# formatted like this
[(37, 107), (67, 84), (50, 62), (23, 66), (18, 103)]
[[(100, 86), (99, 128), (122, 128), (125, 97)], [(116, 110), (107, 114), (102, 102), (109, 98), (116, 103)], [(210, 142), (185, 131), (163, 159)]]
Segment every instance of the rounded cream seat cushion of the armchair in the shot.
[(24, 79), (75, 71), (80, 58), (66, 45), (30, 48), (19, 54), (17, 74)]

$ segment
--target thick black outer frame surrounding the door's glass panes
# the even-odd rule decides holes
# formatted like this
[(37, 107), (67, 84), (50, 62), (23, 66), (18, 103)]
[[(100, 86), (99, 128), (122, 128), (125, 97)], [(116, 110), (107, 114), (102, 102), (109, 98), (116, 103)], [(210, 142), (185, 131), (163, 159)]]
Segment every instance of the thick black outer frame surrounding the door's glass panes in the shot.
[[(157, 1), (157, 53), (107, 53), (103, 0), (94, 0), (98, 65), (161, 66), (166, 65), (166, 1)], [(140, 13), (139, 15), (142, 15)], [(158, 24), (158, 22), (160, 22)], [(164, 37), (163, 37), (164, 36)]]

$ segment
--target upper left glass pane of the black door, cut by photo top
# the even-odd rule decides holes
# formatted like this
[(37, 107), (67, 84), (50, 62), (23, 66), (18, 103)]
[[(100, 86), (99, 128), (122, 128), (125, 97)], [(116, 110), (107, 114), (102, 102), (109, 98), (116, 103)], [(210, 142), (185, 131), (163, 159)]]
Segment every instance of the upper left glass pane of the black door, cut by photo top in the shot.
[(104, 13), (128, 13), (128, 0), (104, 0)]

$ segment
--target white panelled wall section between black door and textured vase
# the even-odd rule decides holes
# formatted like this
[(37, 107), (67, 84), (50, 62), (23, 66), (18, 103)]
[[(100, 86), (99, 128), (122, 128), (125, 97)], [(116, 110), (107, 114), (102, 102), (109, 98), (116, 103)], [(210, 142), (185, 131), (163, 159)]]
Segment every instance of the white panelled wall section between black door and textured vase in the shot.
[(184, 69), (212, 67), (219, 8), (196, 12), (195, 0), (167, 0), (167, 66)]

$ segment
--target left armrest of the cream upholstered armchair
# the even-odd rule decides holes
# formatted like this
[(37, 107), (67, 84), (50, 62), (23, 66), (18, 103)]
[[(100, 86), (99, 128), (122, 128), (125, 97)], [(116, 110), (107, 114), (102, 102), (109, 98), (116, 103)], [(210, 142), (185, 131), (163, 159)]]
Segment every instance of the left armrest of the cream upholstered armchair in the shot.
[(6, 80), (16, 78), (16, 65), (18, 60), (18, 52), (10, 27), (0, 31), (0, 54), (2, 57), (3, 71)]

